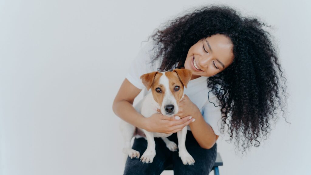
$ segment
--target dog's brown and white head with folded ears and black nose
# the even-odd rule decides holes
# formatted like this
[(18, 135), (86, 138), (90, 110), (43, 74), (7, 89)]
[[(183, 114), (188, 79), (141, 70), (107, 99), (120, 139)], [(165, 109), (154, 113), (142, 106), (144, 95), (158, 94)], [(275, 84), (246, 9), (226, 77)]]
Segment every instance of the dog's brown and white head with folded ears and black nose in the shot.
[(187, 88), (192, 72), (188, 69), (174, 69), (173, 72), (151, 72), (140, 79), (147, 90), (151, 89), (154, 100), (161, 106), (161, 113), (173, 116), (178, 113), (178, 104)]

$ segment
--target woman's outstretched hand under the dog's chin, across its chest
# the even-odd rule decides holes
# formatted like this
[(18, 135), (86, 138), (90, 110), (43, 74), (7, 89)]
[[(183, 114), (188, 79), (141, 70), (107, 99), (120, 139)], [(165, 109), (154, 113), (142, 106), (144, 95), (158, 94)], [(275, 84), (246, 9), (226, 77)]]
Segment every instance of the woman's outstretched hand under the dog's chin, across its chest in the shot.
[(155, 113), (152, 116), (145, 119), (145, 130), (149, 132), (160, 132), (171, 134), (181, 131), (185, 126), (189, 125), (192, 117), (187, 116), (182, 119), (175, 119), (175, 116), (165, 116), (161, 113)]

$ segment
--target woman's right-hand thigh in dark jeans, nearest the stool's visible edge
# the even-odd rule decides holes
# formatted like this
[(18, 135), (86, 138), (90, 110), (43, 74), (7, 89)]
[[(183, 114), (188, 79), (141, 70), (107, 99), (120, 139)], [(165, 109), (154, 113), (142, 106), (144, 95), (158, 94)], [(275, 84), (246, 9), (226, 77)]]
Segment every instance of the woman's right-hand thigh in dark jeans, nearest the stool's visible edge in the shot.
[(192, 132), (188, 131), (186, 137), (186, 149), (195, 160), (195, 163), (194, 165), (184, 165), (178, 155), (178, 151), (173, 152), (172, 161), (174, 174), (209, 174), (216, 161), (217, 144), (215, 143), (211, 149), (203, 149), (193, 137)]

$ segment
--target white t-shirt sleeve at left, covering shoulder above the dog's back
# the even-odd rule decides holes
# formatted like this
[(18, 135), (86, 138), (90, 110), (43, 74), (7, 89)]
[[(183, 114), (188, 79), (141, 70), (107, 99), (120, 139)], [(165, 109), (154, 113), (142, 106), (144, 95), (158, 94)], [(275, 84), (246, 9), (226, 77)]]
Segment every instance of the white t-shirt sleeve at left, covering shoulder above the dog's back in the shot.
[(138, 52), (135, 59), (132, 61), (126, 78), (129, 82), (131, 82), (135, 87), (139, 89), (143, 89), (145, 86), (142, 84), (140, 76), (145, 73), (150, 73), (156, 71), (160, 66), (160, 60), (156, 60), (154, 64), (151, 63), (152, 58), (154, 56), (154, 41), (148, 41), (144, 46), (142, 46), (141, 50)]

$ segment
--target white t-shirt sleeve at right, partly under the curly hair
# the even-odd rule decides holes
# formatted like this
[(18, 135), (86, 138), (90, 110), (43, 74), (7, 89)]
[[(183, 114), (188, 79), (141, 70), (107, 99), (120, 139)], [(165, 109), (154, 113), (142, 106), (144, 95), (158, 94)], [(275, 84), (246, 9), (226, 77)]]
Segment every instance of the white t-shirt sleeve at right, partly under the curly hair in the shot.
[[(212, 129), (214, 130), (214, 133), (216, 135), (220, 135), (220, 128), (221, 128), (221, 106), (216, 101), (217, 97), (213, 94), (213, 92), (209, 92), (209, 101), (205, 103), (203, 106), (203, 118), (204, 120), (211, 125)], [(212, 103), (211, 103), (212, 102)], [(215, 106), (214, 104), (215, 103)]]

